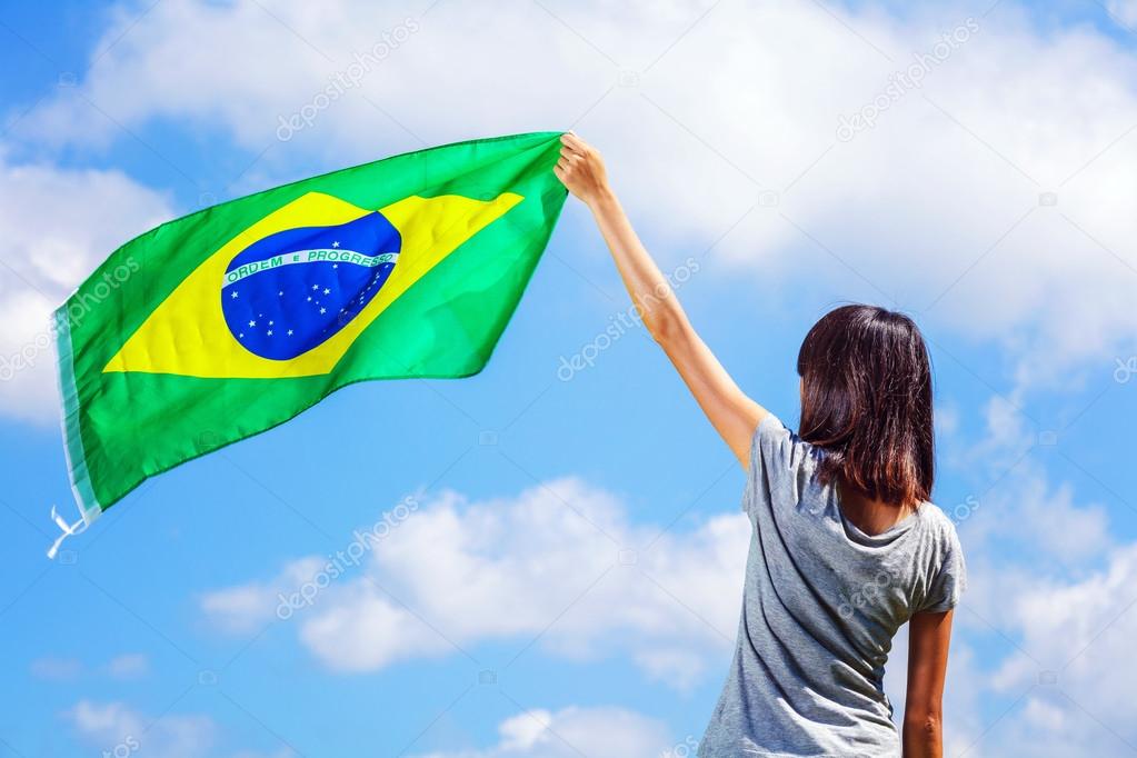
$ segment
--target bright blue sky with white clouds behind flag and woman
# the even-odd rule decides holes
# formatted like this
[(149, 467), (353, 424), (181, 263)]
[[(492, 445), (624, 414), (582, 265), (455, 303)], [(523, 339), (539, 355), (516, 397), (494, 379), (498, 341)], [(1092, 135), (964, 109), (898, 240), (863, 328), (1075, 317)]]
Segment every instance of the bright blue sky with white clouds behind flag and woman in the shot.
[(741, 473), (613, 326), (626, 298), (572, 201), (481, 375), (345, 389), (43, 557), (73, 506), (36, 345), (115, 247), (317, 172), (568, 127), (788, 423), (828, 308), (924, 328), (936, 500), (971, 569), (949, 755), (1137, 751), (1134, 28), (1122, 0), (3, 3), (0, 755), (689, 755), (731, 653)]

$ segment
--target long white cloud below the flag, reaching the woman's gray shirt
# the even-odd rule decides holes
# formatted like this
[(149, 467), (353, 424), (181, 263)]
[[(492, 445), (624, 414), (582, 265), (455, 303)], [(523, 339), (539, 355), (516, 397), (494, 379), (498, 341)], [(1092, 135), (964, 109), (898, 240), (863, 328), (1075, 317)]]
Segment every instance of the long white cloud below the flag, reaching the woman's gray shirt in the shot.
[[(515, 499), (448, 493), (294, 616), (304, 644), (338, 670), (537, 641), (570, 658), (626, 655), (686, 688), (733, 643), (749, 533), (735, 514), (656, 539), (657, 527), (630, 525), (612, 495), (572, 478)], [(282, 594), (322, 583), (323, 563), (306, 558), (273, 581), (209, 593), (202, 609), (223, 628), (255, 630), (275, 617)]]

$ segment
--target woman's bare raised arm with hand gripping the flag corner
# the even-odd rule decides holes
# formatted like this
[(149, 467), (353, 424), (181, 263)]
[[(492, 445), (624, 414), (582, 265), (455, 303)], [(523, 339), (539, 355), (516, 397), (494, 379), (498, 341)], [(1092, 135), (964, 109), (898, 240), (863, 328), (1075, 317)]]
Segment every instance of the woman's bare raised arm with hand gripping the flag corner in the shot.
[(565, 134), (561, 142), (561, 160), (554, 173), (592, 211), (645, 326), (746, 468), (750, 438), (767, 411), (742, 393), (691, 327), (671, 283), (644, 248), (608, 185), (600, 153), (575, 134)]

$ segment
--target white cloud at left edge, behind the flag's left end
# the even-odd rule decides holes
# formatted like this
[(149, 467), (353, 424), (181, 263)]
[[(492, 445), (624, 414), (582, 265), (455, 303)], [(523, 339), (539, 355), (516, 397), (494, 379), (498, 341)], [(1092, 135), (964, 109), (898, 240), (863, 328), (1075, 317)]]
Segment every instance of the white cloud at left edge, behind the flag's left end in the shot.
[(123, 242), (171, 215), (159, 193), (121, 172), (14, 165), (0, 144), (0, 413), (58, 419), (51, 311)]

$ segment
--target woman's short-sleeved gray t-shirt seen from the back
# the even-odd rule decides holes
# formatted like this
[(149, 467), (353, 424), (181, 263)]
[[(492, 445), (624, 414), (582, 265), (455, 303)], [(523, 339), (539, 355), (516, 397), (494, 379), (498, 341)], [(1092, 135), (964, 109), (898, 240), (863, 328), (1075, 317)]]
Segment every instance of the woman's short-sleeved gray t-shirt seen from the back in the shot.
[(702, 758), (901, 755), (882, 686), (893, 635), (955, 606), (963, 551), (930, 502), (881, 534), (858, 530), (818, 480), (823, 456), (772, 415), (755, 432), (738, 645)]

